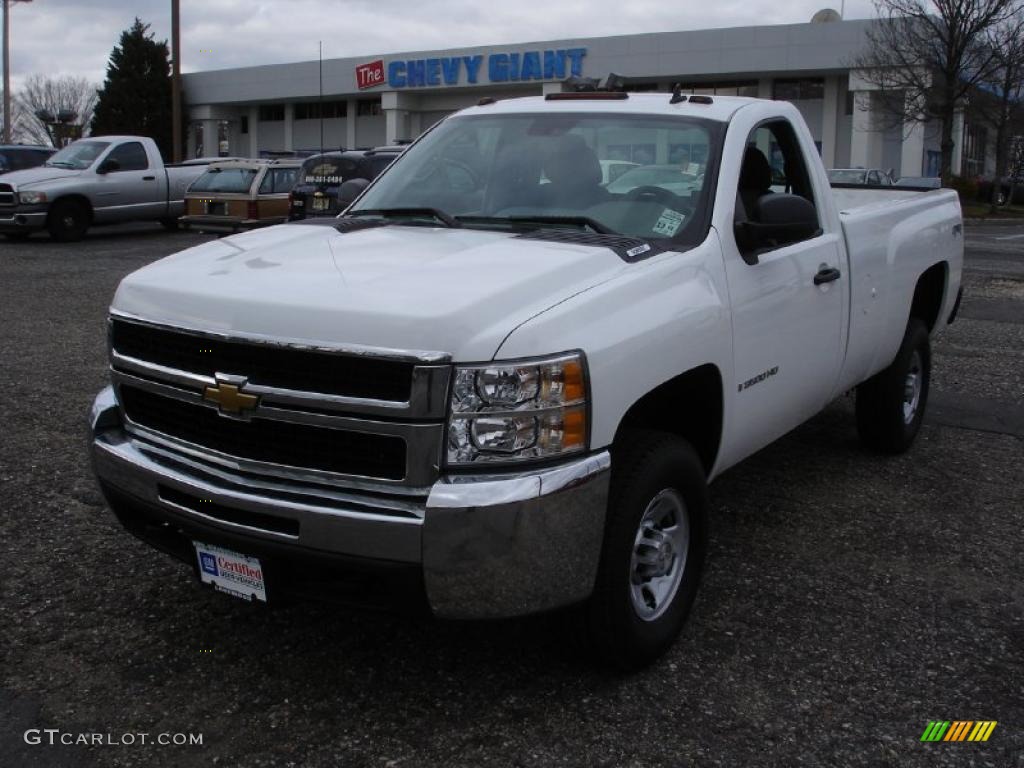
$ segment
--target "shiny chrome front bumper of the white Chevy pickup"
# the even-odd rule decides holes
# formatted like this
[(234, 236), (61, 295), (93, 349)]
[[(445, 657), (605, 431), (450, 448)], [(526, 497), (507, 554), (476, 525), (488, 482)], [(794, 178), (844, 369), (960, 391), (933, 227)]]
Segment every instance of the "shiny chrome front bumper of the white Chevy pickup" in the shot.
[[(111, 388), (96, 397), (90, 428), (101, 485), (166, 525), (244, 537), (293, 561), (328, 554), (415, 565), (437, 616), (524, 615), (580, 602), (593, 590), (607, 452), (528, 473), (444, 476), (426, 498), (395, 500), (345, 487), (296, 488), (140, 442), (122, 428)], [(181, 506), (175, 494), (211, 506)], [(220, 509), (240, 514), (227, 520)], [(270, 519), (287, 525), (260, 523)]]

